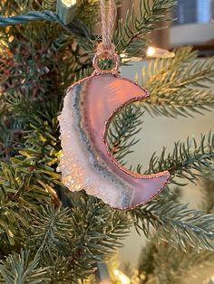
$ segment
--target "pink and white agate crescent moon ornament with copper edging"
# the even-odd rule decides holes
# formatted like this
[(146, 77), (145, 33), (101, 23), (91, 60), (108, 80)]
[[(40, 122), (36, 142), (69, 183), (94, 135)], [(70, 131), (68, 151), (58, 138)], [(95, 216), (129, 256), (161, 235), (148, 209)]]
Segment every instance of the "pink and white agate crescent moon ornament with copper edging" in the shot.
[(168, 171), (153, 175), (132, 173), (120, 165), (108, 150), (106, 135), (112, 118), (133, 101), (147, 99), (148, 91), (119, 75), (116, 68), (101, 71), (94, 58), (94, 71), (73, 84), (58, 117), (63, 157), (63, 184), (71, 191), (84, 189), (117, 209), (146, 204), (166, 185)]

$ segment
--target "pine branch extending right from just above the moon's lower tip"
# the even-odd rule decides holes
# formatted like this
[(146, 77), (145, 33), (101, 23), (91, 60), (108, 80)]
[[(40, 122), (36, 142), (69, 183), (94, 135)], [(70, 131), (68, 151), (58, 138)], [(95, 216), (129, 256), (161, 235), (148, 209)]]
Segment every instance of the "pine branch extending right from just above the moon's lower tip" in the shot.
[[(176, 142), (172, 153), (166, 154), (163, 148), (160, 156), (151, 156), (150, 167), (146, 173), (158, 173), (169, 170), (172, 177), (195, 182), (198, 176), (213, 173), (214, 133), (201, 135), (199, 143), (194, 137), (187, 142)], [(172, 178), (171, 183), (176, 184)]]

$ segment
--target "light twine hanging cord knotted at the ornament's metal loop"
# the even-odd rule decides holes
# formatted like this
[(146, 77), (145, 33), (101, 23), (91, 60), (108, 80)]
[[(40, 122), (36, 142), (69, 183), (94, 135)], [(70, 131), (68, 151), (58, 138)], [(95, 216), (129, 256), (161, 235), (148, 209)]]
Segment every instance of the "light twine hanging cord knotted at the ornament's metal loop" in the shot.
[[(108, 1), (108, 8), (106, 2)], [(102, 15), (102, 43), (97, 46), (96, 56), (102, 59), (115, 58), (115, 45), (112, 43), (113, 27), (116, 21), (117, 8), (114, 0), (100, 0)]]

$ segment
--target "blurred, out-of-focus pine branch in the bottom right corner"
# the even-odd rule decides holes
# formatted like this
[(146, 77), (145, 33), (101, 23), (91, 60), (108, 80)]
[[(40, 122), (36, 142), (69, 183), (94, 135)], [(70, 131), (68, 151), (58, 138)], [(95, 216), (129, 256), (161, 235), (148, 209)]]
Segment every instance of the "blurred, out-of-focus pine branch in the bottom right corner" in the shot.
[(152, 280), (160, 284), (182, 284), (183, 279), (188, 279), (201, 264), (203, 267), (210, 265), (213, 251), (176, 250), (166, 241), (158, 242), (153, 238), (142, 249), (139, 260), (141, 284), (149, 284)]

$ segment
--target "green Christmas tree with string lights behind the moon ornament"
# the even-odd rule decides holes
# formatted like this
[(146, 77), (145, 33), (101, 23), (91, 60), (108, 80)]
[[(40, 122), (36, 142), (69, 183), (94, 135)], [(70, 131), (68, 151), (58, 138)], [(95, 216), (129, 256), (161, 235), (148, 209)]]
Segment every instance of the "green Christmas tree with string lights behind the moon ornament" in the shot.
[[(170, 21), (174, 5), (141, 0), (139, 14), (131, 10), (117, 23), (118, 54), (128, 62), (143, 59), (147, 35)], [(66, 89), (92, 73), (101, 41), (94, 30), (99, 9), (98, 0), (0, 3), (0, 283), (101, 282), (94, 277), (100, 263), (111, 258), (132, 226), (149, 241), (133, 283), (182, 283), (180, 271), (213, 259), (213, 188), (204, 186), (200, 209), (179, 199), (187, 182), (213, 175), (211, 131), (151, 156), (145, 173), (168, 170), (170, 181), (158, 197), (131, 211), (112, 209), (84, 191), (71, 193), (62, 184), (57, 116)], [(144, 111), (188, 118), (214, 107), (207, 85), (214, 80), (214, 59), (196, 58), (197, 52), (184, 47), (173, 58), (151, 61), (142, 76), (151, 97), (122, 109), (108, 132), (109, 148), (122, 165), (137, 142)], [(111, 64), (102, 62), (102, 69)], [(131, 170), (142, 174), (141, 165)]]

